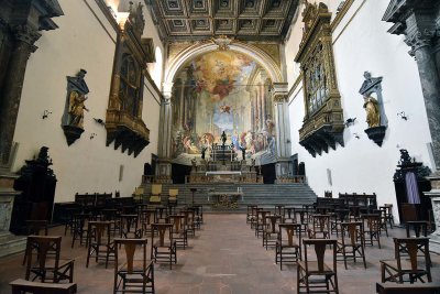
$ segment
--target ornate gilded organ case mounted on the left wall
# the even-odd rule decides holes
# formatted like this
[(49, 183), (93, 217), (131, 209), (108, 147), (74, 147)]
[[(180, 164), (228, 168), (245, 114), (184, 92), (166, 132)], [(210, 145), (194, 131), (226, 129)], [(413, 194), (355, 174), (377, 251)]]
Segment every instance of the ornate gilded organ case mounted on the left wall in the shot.
[[(150, 143), (150, 130), (142, 120), (146, 63), (152, 61), (151, 41), (141, 39), (145, 21), (142, 6), (130, 6), (128, 20), (118, 32), (109, 106), (106, 116), (107, 142), (122, 145), (134, 156)], [(153, 55), (154, 56), (154, 55)]]

